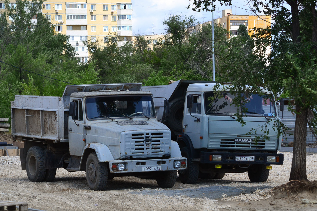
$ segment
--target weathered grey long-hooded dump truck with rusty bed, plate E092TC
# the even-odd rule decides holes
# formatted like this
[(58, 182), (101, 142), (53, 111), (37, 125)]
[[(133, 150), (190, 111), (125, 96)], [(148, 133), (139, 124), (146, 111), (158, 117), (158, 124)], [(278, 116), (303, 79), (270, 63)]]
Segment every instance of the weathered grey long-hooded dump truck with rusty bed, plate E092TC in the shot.
[(153, 174), (159, 187), (173, 187), (187, 159), (157, 121), (152, 94), (140, 88), (71, 85), (62, 97), (16, 95), (12, 136), (24, 142), (21, 163), (29, 180), (53, 181), (56, 168), (65, 168), (85, 171), (92, 190), (104, 190), (116, 176)]

